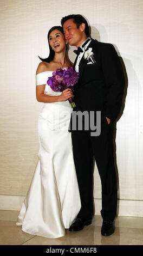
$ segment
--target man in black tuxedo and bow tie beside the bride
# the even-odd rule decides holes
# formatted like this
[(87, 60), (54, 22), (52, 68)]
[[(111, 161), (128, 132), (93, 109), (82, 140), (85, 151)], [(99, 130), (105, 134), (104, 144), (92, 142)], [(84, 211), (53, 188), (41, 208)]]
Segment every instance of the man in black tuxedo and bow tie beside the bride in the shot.
[[(73, 113), (92, 112), (95, 120), (96, 112), (101, 113), (100, 135), (92, 136), (90, 127), (88, 130), (84, 127), (82, 130), (78, 127), (72, 130), (81, 210), (69, 230), (81, 230), (85, 225), (92, 223), (94, 157), (102, 185), (101, 234), (107, 236), (114, 233), (113, 221), (116, 216), (117, 188), (113, 157), (113, 125), (121, 108), (124, 74), (114, 46), (89, 38), (88, 23), (83, 16), (63, 17), (61, 25), (69, 45), (77, 47), (74, 51), (77, 54), (74, 69), (80, 74), (79, 82), (75, 86), (76, 108)], [(98, 123), (98, 119), (96, 122)]]

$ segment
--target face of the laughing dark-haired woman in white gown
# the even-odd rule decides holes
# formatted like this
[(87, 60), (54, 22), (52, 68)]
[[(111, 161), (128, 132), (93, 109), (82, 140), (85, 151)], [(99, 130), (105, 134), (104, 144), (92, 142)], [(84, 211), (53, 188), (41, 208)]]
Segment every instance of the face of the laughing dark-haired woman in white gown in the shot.
[(55, 52), (61, 52), (66, 47), (64, 35), (58, 29), (52, 31), (49, 35), (49, 44)]

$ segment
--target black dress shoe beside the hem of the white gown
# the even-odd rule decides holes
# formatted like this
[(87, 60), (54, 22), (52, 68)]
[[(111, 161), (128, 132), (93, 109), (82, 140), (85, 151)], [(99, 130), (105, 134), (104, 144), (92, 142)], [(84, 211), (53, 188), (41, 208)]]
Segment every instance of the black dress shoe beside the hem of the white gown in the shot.
[(69, 231), (79, 231), (82, 230), (85, 225), (92, 224), (92, 220), (86, 220), (85, 218), (76, 218), (74, 223), (70, 226)]

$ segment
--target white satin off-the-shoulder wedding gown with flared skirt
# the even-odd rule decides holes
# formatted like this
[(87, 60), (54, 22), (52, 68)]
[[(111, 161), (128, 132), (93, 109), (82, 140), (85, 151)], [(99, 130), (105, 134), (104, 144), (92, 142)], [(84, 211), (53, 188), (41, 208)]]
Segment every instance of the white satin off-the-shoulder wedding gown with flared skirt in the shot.
[[(53, 71), (36, 75), (36, 85), (46, 84)], [(45, 94), (60, 95), (47, 84)], [(38, 119), (40, 150), (38, 162), (16, 225), (38, 236), (66, 235), (81, 208), (73, 160), (71, 133), (72, 108), (69, 101), (44, 103)]]

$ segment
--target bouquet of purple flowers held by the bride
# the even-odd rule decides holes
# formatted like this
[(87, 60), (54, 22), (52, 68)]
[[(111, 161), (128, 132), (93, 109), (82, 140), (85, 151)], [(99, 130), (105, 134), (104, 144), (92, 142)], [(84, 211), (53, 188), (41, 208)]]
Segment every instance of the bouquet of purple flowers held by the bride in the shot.
[[(74, 71), (72, 66), (70, 68), (56, 69), (56, 71), (53, 72), (53, 76), (48, 77), (47, 84), (54, 92), (63, 92), (63, 90), (67, 88), (73, 90), (74, 84), (76, 84), (79, 79), (78, 74), (79, 72)], [(72, 97), (70, 97), (68, 101), (70, 106), (74, 108), (75, 102)]]

